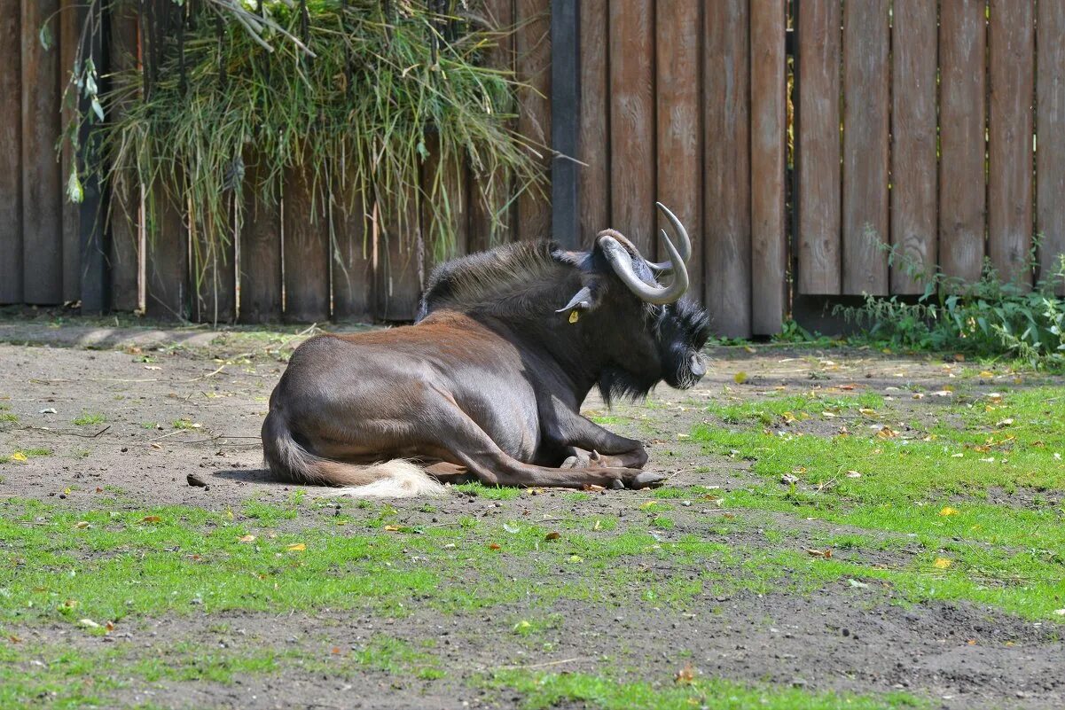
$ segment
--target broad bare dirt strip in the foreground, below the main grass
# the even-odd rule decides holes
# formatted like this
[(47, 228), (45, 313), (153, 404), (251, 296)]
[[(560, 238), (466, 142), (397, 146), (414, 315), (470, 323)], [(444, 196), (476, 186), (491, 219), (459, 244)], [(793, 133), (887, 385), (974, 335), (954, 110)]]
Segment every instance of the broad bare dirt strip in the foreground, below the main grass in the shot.
[[(195, 644), (202, 658), (266, 648), (285, 655), (280, 673), (245, 674), (232, 683), (133, 681), (116, 696), (174, 708), (511, 708), (520, 698), (478, 681), (501, 668), (603, 673), (606, 667), (625, 670), (628, 681), (668, 686), (686, 663), (740, 682), (854, 693), (904, 690), (944, 708), (1065, 703), (1065, 679), (1058, 673), (1065, 645), (1051, 629), (969, 605), (870, 606), (864, 594), (842, 584), (809, 598), (742, 593), (704, 599), (690, 613), (566, 601), (535, 610), (564, 621), (526, 639), (511, 625), (529, 610), (502, 607), (466, 616), (420, 609), (403, 618), (328, 611), (313, 617), (219, 613), (152, 620), (106, 638), (52, 627), (28, 641), (117, 647), (133, 657), (165, 654), (178, 643)], [(375, 638), (398, 639), (433, 657), (444, 677), (428, 681), (409, 670), (343, 663)]]

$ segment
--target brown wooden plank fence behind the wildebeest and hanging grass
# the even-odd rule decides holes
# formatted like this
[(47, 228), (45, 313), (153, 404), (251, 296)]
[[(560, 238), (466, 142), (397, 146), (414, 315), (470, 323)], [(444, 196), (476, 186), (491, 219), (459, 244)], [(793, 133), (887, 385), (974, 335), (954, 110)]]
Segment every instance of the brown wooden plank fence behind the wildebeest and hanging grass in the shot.
[[(22, 38), (0, 44), (0, 95), (20, 97), (0, 104), (0, 303), (78, 300), (83, 286), (77, 210), (62, 198), (69, 155), (52, 151), (72, 14), (53, 20), (58, 50), (37, 43), (43, 19), (72, 4), (0, 0), (0, 31)], [(564, 154), (551, 159), (551, 201), (523, 194), (502, 233), (469, 177), (448, 185), (465, 250), (587, 245), (609, 226), (660, 255), (660, 200), (692, 234), (694, 295), (733, 336), (776, 332), (804, 295), (920, 293), (881, 245), (969, 281), (987, 259), (1033, 283), (1065, 252), (1065, 0), (484, 7), (519, 28), (490, 57), (529, 83), (519, 129)], [(111, 19), (112, 60), (135, 54), (136, 22)], [(130, 218), (108, 234), (111, 307), (206, 321), (412, 316), (428, 211), (371, 219), (367, 235), (359, 212), (372, 207), (311, 219), (299, 175), (281, 192), (278, 208), (249, 200), (231, 249), (198, 274), (186, 205), (113, 195)], [(158, 224), (143, 224), (142, 197), (159, 200)]]

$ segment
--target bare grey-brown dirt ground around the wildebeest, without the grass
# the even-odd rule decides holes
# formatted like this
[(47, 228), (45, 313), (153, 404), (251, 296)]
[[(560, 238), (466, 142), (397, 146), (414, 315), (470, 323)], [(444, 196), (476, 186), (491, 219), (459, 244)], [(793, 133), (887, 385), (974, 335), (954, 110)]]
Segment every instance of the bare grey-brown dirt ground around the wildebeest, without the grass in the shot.
[[(94, 500), (115, 491), (121, 493), (119, 506), (125, 507), (177, 503), (224, 510), (249, 499), (289, 499), (291, 486), (271, 480), (261, 468), (259, 428), (269, 393), (283, 371), (284, 352), (298, 339), (248, 346), (244, 341), (219, 341), (212, 333), (194, 335), (195, 340), (183, 335), (186, 346), (174, 349), (174, 334), (166, 331), (118, 330), (103, 336), (98, 329), (49, 332), (11, 327), (5, 332), (0, 328), (0, 337), (9, 341), (0, 344), (0, 398), (18, 417), (17, 426), (0, 427), (0, 453), (36, 447), (53, 452), (29, 465), (3, 466), (0, 496), (38, 498), (72, 509), (93, 508), (98, 505)], [(119, 349), (24, 346), (11, 341), (65, 346), (78, 346), (80, 341), (81, 345)], [(702, 401), (741, 401), (768, 392), (801, 393), (839, 384), (880, 393), (902, 384), (936, 390), (950, 383), (955, 367), (941, 359), (779, 346), (719, 348), (710, 352), (710, 359), (709, 374), (697, 390), (678, 393), (660, 387), (649, 407), (623, 407), (619, 412), (626, 418), (608, 425), (648, 442), (651, 465), (672, 474), (670, 486), (699, 484), (727, 491), (748, 483), (747, 462), (708, 457), (685, 444), (684, 433), (705, 419), (699, 407)], [(744, 379), (737, 378), (740, 371), (746, 374), (742, 384), (737, 383)], [(913, 402), (913, 416), (934, 419), (933, 399)], [(594, 397), (585, 409), (606, 413)], [(75, 425), (79, 417), (91, 423)], [(92, 423), (94, 418), (99, 420)], [(176, 423), (185, 423), (177, 426), (187, 428), (176, 428)], [(201, 476), (210, 489), (190, 486), (187, 474)], [(97, 493), (98, 489), (103, 493)], [(609, 513), (645, 527), (649, 515), (634, 500), (642, 502), (649, 495), (611, 492), (574, 501), (556, 491), (509, 500), (454, 494), (432, 512), (422, 511), (421, 501), (394, 505), (399, 518), (411, 525), (460, 514), (539, 519), (576, 512)], [(695, 533), (737, 548), (797, 544), (769, 540), (757, 525), (716, 535), (700, 523), (701, 516), (711, 512), (719, 511), (697, 500), (691, 508), (677, 510), (675, 527), (661, 534), (675, 539)], [(761, 519), (758, 515), (774, 519), (770, 513), (751, 513), (755, 522)], [(313, 521), (301, 517), (293, 523), (307, 524)], [(792, 519), (788, 525), (796, 529), (800, 547), (803, 526), (818, 532), (846, 531), (823, 522)], [(668, 564), (661, 560), (648, 563)], [(663, 576), (669, 572), (661, 569)], [(558, 579), (564, 580), (564, 575), (559, 571)], [(834, 582), (812, 595), (738, 592), (699, 598), (694, 613), (578, 601), (560, 602), (555, 612), (567, 621), (552, 631), (550, 654), (534, 653), (506, 632), (522, 613), (520, 604), (454, 616), (415, 610), (386, 621), (329, 610), (280, 616), (194, 614), (180, 622), (142, 620), (127, 632), (105, 639), (84, 637), (59, 624), (31, 632), (43, 641), (75, 645), (127, 644), (144, 654), (165, 653), (178, 641), (240, 649), (283, 640), (313, 655), (327, 646), (357, 647), (383, 628), (411, 641), (437, 638), (437, 653), (455, 670), (443, 682), (397, 679), (383, 671), (365, 670), (355, 688), (349, 679), (322, 677), (298, 667), (285, 670), (280, 677), (241, 677), (236, 683), (134, 684), (116, 698), (130, 705), (512, 707), (519, 705), (518, 695), (471, 688), (457, 679), (505, 664), (593, 673), (602, 670), (604, 658), (616, 658), (621, 649), (628, 662), (642, 659), (639, 673), (644, 677), (670, 678), (679, 663), (677, 649), (685, 649), (702, 673), (742, 682), (857, 693), (904, 690), (933, 707), (947, 708), (1065, 706), (1061, 673), (1065, 648), (1056, 629), (968, 602), (907, 607), (886, 598), (870, 601), (861, 590)], [(556, 661), (557, 666), (551, 665)]]

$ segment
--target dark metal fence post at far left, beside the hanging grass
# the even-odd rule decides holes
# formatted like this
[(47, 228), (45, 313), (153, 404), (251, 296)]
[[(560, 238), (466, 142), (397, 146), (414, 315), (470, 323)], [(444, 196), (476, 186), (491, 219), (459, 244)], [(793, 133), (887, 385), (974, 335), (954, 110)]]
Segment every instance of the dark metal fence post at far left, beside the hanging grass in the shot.
[[(108, 75), (106, 57), (103, 54), (104, 13), (103, 3), (82, 3), (78, 5), (78, 26), (84, 28), (89, 22), (89, 31), (82, 34), (82, 56), (92, 57), (100, 77)], [(92, 15), (89, 15), (92, 13)], [(78, 127), (78, 162), (82, 167), (99, 165), (100, 132), (97, 118), (89, 100), (79, 97), (81, 126)], [(78, 214), (78, 231), (81, 244), (81, 312), (103, 313), (111, 308), (111, 279), (108, 269), (109, 244), (104, 232), (106, 210), (104, 208), (101, 169), (94, 167), (86, 171), (82, 184), (83, 199)]]

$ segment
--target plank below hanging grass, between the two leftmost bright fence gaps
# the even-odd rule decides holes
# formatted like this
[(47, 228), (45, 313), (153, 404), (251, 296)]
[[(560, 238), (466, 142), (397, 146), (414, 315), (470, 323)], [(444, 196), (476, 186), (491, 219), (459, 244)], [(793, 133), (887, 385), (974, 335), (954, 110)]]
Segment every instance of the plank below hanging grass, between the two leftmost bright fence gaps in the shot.
[(189, 317), (189, 230), (177, 187), (149, 193), (146, 312), (163, 320)]

